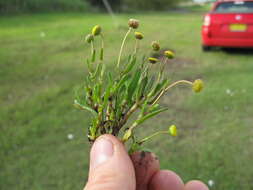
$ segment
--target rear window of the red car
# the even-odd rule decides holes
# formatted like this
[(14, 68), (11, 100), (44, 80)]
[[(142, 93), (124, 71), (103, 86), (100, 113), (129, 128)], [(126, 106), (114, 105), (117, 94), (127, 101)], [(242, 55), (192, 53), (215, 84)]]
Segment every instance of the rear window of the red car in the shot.
[(218, 4), (215, 13), (253, 13), (253, 1), (223, 2)]

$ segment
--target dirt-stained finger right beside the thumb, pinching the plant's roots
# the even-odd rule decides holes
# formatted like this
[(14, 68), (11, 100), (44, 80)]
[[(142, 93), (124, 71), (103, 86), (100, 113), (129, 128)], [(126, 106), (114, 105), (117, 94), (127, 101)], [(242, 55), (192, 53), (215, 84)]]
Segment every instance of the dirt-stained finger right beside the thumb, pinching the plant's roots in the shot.
[(136, 175), (136, 189), (147, 190), (151, 177), (159, 170), (158, 158), (151, 152), (136, 152), (131, 155)]

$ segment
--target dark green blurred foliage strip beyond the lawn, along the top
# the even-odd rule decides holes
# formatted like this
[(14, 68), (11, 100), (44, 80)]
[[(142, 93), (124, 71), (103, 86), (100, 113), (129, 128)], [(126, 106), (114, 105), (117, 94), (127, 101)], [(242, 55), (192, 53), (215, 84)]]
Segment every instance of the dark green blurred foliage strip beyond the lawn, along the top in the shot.
[[(187, 0), (108, 0), (115, 11), (166, 10)], [(0, 13), (92, 11), (104, 9), (102, 0), (0, 0)]]

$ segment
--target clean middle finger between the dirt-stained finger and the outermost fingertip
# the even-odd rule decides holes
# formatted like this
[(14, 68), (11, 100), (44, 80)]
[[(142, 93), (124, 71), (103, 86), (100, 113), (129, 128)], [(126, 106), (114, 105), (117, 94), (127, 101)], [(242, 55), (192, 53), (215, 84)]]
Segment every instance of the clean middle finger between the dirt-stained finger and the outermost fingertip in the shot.
[(161, 170), (152, 177), (149, 190), (184, 190), (184, 183), (174, 172)]

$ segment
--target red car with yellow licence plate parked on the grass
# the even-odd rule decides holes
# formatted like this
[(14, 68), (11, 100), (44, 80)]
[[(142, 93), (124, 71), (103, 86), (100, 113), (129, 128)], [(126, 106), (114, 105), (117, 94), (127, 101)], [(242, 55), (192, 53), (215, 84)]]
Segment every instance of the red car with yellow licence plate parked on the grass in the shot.
[(218, 0), (205, 15), (202, 48), (253, 47), (253, 0)]

